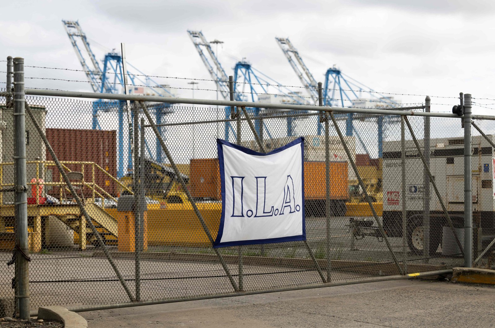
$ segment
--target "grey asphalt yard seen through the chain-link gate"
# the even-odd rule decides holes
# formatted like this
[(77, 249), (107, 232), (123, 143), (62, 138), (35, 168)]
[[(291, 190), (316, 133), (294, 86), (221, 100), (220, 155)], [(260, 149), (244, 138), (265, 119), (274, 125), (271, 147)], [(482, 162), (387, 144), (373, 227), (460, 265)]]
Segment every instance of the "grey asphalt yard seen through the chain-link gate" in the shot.
[[(339, 217), (331, 220), (330, 245), (334, 260), (352, 260), (391, 263), (391, 254), (382, 241), (375, 237), (352, 240), (347, 226), (349, 218)], [(308, 218), (306, 220), (307, 240), (316, 258), (326, 258), (326, 220)], [(439, 252), (436, 256), (423, 259), (411, 254), (402, 246), (401, 238), (391, 238), (390, 243), (399, 261), (407, 263), (429, 263), (452, 268), (462, 265), (461, 257), (446, 257)], [(116, 247), (109, 247), (116, 251)], [(94, 257), (96, 249), (88, 247), (85, 251), (77, 248), (51, 248), (42, 253), (31, 254), (30, 290), (33, 310), (40, 305), (89, 305), (127, 302), (122, 286), (116, 279), (108, 261), (103, 257)], [(167, 260), (166, 253), (213, 253), (211, 247), (171, 247), (153, 246), (148, 251), (163, 253), (163, 258), (142, 260), (142, 299), (179, 298), (200, 294), (231, 292), (232, 286), (218, 263)], [(101, 252), (101, 251), (100, 251)], [(220, 249), (223, 254), (237, 255), (237, 247)], [(281, 258), (309, 258), (307, 249), (301, 242), (273, 245), (244, 246), (244, 256), (266, 256)], [(0, 261), (7, 262), (10, 252), (1, 252)], [(115, 260), (129, 288), (134, 292), (133, 259)], [(216, 262), (216, 261), (215, 261)], [(359, 264), (362, 266), (362, 264)], [(359, 266), (357, 265), (357, 266)], [(0, 267), (0, 297), (13, 297), (11, 279), (14, 266)], [(238, 272), (237, 264), (229, 264), (233, 275)], [(310, 269), (311, 271), (307, 271)], [(287, 268), (273, 265), (245, 265), (245, 289), (284, 287), (321, 282), (313, 267)], [(379, 272), (377, 275), (382, 275)], [(357, 271), (332, 271), (332, 280), (345, 281), (367, 278), (367, 273)], [(237, 277), (234, 277), (237, 280)]]

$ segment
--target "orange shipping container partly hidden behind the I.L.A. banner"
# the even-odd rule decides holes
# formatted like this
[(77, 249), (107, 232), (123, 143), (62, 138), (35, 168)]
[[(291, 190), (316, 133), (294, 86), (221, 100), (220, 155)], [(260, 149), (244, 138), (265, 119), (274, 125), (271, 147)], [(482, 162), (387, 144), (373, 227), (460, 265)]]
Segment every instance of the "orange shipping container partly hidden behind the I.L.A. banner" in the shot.
[[(347, 162), (330, 162), (330, 198), (347, 200)], [(304, 162), (304, 198), (324, 200), (325, 162)], [(221, 200), (218, 159), (193, 159), (190, 163), (190, 191), (194, 198)]]

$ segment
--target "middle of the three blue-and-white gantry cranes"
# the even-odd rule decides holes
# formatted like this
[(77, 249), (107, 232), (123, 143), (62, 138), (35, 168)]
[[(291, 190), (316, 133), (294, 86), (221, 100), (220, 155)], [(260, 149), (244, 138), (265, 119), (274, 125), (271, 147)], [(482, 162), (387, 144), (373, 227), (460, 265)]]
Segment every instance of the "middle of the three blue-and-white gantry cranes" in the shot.
[[(210, 43), (206, 40), (201, 31), (188, 30), (189, 37), (193, 41), (199, 57), (206, 66), (211, 79), (216, 83), (217, 88), (226, 100), (229, 100), (229, 83), (228, 76), (223, 66), (220, 64), (218, 57), (213, 51)], [(285, 104), (308, 104), (306, 98), (293, 92), (282, 84), (271, 79), (267, 75), (254, 69), (246, 60), (236, 63), (234, 68), (234, 99), (237, 101), (252, 102), (277, 102)], [(270, 94), (271, 93), (271, 94)], [(265, 123), (260, 123), (257, 118), (260, 116), (262, 109), (247, 108), (255, 118), (255, 129), (259, 134), (266, 130), (271, 138), (272, 134)], [(230, 107), (225, 108), (225, 117), (230, 118)], [(294, 118), (287, 117), (287, 135), (294, 134)], [(229, 134), (236, 135), (230, 122), (225, 123), (225, 139), (229, 139)]]

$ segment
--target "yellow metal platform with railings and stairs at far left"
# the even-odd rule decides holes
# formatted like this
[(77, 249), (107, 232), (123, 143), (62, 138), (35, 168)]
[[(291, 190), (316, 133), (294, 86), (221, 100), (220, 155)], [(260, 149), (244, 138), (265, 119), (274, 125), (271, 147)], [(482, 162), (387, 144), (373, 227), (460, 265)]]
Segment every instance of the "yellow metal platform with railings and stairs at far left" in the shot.
[[(116, 198), (107, 193), (103, 188), (95, 183), (96, 172), (104, 174), (110, 181), (112, 180), (121, 188), (132, 194), (132, 191), (122, 185), (115, 177), (109, 174), (101, 166), (94, 162), (77, 162), (77, 161), (61, 161), (60, 162), (67, 172), (71, 172), (71, 169), (67, 165), (78, 166), (78, 169), (83, 173), (83, 179), (81, 181), (74, 181), (72, 184), (76, 188), (80, 188), (81, 192), (90, 190), (89, 197), (85, 198), (85, 209), (93, 220), (93, 224), (97, 228), (99, 234), (103, 238), (104, 242), (109, 245), (115, 245), (117, 242), (117, 221), (109, 215), (105, 210), (105, 198), (116, 203)], [(60, 221), (65, 223), (68, 227), (74, 230), (74, 241), (79, 244), (81, 249), (85, 249), (87, 244), (93, 244), (96, 242), (96, 236), (93, 235), (89, 227), (86, 227), (86, 220), (81, 214), (79, 206), (73, 201), (67, 199), (66, 195), (70, 195), (65, 182), (60, 179), (59, 182), (43, 181), (41, 177), (44, 177), (47, 169), (55, 166), (51, 161), (28, 161), (27, 165), (35, 165), (36, 176), (32, 180), (28, 178), (28, 186), (32, 186), (33, 197), (28, 198), (28, 225), (30, 226), (31, 233), (30, 238), (30, 250), (33, 252), (39, 252), (43, 244), (42, 236), (42, 222), (49, 216), (54, 216)], [(0, 163), (0, 188), (6, 189), (13, 187), (13, 183), (4, 183), (3, 172), (5, 169), (9, 169), (8, 166), (13, 166), (13, 162)], [(11, 169), (11, 168), (10, 168)], [(87, 174), (84, 174), (86, 170)], [(90, 172), (90, 173), (88, 173)], [(85, 181), (85, 177), (90, 176), (89, 181)], [(43, 187), (58, 187), (59, 195), (56, 202), (45, 202), (45, 199), (41, 197)], [(99, 198), (99, 202), (97, 202)], [(58, 203), (58, 204), (57, 204)], [(4, 203), (3, 194), (0, 193), (0, 240), (3, 249), (12, 249), (12, 245), (15, 241), (15, 234), (13, 232), (13, 217), (14, 217), (14, 205), (11, 203)]]

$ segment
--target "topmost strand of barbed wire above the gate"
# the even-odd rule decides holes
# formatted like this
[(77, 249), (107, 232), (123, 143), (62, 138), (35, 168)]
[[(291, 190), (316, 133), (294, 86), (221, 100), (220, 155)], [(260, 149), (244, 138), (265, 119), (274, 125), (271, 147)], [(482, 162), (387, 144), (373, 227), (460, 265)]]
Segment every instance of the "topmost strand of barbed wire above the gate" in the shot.
[[(69, 68), (56, 68), (56, 67), (44, 67), (44, 66), (29, 66), (25, 65), (24, 67), (31, 67), (31, 68), (41, 68), (41, 69), (52, 69), (52, 70), (63, 70), (63, 71), (72, 71), (72, 72), (84, 72), (84, 73), (93, 73), (93, 74), (117, 74), (117, 75), (122, 75), (122, 73), (115, 73), (115, 72), (99, 72), (99, 71), (86, 71), (86, 70), (77, 70), (77, 69), (69, 69)], [(196, 78), (181, 78), (181, 77), (170, 77), (170, 76), (158, 76), (158, 75), (144, 75), (144, 74), (128, 74), (126, 73), (127, 76), (141, 76), (141, 77), (148, 77), (148, 78), (163, 78), (163, 79), (178, 79), (178, 80), (192, 80), (192, 81), (208, 81), (208, 82), (224, 82), (228, 83), (229, 81), (224, 81), (224, 80), (211, 80), (211, 79), (196, 79)], [(88, 81), (89, 82), (89, 81)], [(99, 82), (103, 83), (103, 82)], [(104, 82), (108, 83), (108, 82)], [(283, 86), (287, 88), (302, 88), (302, 89), (314, 89), (317, 90), (318, 88), (316, 87), (306, 87), (306, 86), (300, 86), (300, 85), (284, 85), (284, 84), (274, 84), (274, 83), (254, 83), (254, 82), (234, 82), (234, 83), (241, 83), (241, 84), (253, 84), (253, 85), (266, 85), (266, 86)], [(366, 93), (376, 93), (376, 94), (388, 94), (388, 95), (400, 95), (400, 96), (417, 96), (417, 97), (426, 97), (427, 95), (423, 94), (414, 94), (414, 93), (395, 93), (395, 92), (382, 92), (382, 91), (374, 91), (374, 90), (353, 90), (353, 89), (335, 89), (335, 88), (323, 88), (323, 90), (342, 90), (342, 91), (352, 91), (352, 92), (366, 92)], [(228, 91), (222, 91), (222, 90), (215, 90), (215, 91), (220, 91), (220, 92), (228, 92)], [(458, 97), (451, 97), (451, 96), (430, 96), (430, 97), (435, 97), (435, 98), (452, 98), (456, 99)], [(495, 100), (495, 99), (494, 99)]]

